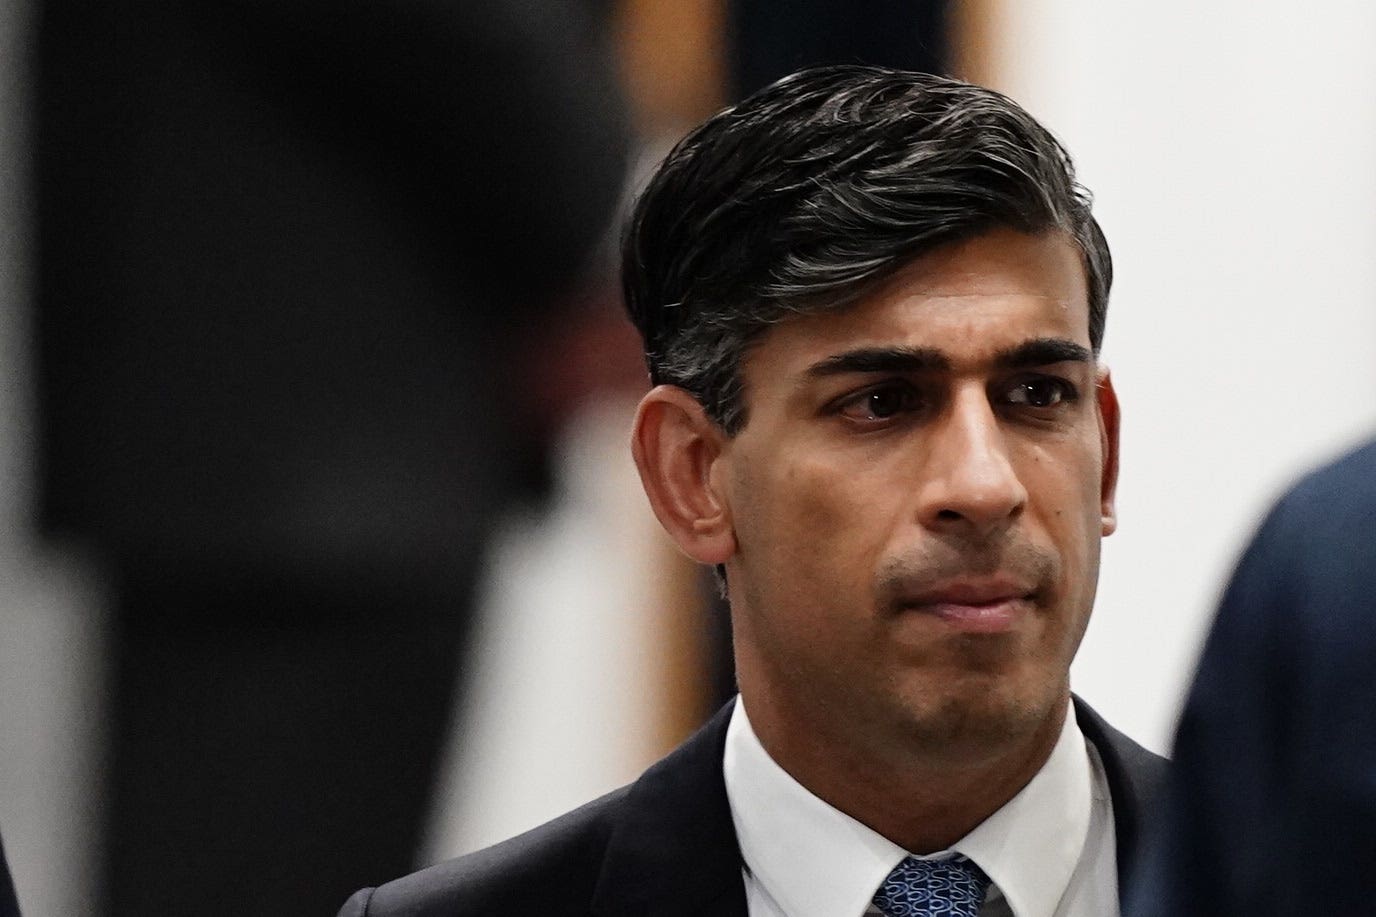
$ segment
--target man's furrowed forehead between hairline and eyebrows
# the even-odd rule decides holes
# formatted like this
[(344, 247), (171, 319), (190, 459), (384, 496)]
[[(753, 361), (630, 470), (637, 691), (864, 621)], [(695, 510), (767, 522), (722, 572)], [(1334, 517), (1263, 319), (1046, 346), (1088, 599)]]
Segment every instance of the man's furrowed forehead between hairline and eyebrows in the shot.
[[(854, 304), (771, 328), (746, 359), (760, 383), (861, 347), (938, 350), (955, 368), (1026, 340), (1090, 346), (1088, 286), (1064, 233), (995, 230), (930, 252)], [(758, 370), (758, 372), (757, 372)]]

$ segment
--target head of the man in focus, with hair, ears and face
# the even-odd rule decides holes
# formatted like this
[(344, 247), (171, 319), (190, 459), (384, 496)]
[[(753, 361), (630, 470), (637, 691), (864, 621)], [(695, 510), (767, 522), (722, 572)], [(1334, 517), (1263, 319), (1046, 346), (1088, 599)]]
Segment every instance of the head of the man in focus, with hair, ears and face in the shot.
[(987, 89), (808, 72), (670, 154), (626, 241), (633, 449), (727, 570), (772, 753), (1050, 749), (1115, 525), (1109, 274), (1068, 157)]

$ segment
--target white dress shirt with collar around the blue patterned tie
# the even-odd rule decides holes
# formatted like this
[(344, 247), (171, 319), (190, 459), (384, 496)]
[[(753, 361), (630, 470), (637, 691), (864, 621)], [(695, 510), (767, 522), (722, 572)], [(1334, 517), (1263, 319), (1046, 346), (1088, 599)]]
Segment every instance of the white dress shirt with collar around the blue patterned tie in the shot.
[[(779, 767), (738, 698), (722, 759), (744, 859), (750, 917), (863, 917), (908, 852), (813, 796)], [(992, 885), (980, 917), (1117, 917), (1113, 807), (1098, 753), (1065, 717), (1031, 782), (969, 834), (959, 852)]]

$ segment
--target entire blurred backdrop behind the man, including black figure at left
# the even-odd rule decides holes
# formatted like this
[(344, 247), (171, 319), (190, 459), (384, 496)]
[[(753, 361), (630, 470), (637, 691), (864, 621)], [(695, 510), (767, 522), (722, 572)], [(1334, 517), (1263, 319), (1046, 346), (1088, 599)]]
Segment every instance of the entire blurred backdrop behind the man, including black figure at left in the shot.
[(1072, 679), (1165, 749), (1258, 514), (1376, 425), (1373, 47), (1357, 0), (0, 6), (25, 913), (333, 913), (729, 694), (629, 460), (615, 226), (810, 63), (1003, 89), (1094, 190), (1123, 471)]

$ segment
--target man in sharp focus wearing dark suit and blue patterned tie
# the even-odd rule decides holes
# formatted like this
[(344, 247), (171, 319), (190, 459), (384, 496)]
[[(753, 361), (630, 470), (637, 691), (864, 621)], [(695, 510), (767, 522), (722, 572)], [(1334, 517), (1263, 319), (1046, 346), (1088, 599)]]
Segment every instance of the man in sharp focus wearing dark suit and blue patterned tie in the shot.
[(341, 916), (1119, 913), (1164, 761), (1069, 690), (1119, 412), (1061, 146), (969, 84), (806, 70), (669, 154), (622, 270), (636, 463), (722, 578), (739, 698)]

